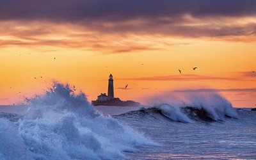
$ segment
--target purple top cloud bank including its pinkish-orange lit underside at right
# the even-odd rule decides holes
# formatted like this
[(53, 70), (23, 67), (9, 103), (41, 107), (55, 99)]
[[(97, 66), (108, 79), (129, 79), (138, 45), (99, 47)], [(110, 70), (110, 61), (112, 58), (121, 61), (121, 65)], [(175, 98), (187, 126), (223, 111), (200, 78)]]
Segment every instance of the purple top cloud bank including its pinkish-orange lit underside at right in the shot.
[(249, 0), (1, 0), (0, 20), (70, 23), (111, 34), (239, 36), (255, 35), (255, 22), (227, 23), (236, 18), (255, 17), (255, 8), (256, 1)]

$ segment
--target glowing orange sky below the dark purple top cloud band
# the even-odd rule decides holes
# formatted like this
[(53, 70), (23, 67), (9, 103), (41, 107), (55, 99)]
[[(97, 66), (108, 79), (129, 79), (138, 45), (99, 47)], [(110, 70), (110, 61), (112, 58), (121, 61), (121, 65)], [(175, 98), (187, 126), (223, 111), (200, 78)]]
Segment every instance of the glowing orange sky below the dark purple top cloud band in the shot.
[(86, 19), (0, 17), (0, 105), (40, 94), (52, 81), (74, 85), (95, 100), (108, 92), (113, 74), (115, 97), (122, 100), (145, 104), (152, 95), (203, 89), (234, 107), (256, 107), (256, 16), (184, 13), (180, 19), (153, 27), (141, 17), (90, 25)]

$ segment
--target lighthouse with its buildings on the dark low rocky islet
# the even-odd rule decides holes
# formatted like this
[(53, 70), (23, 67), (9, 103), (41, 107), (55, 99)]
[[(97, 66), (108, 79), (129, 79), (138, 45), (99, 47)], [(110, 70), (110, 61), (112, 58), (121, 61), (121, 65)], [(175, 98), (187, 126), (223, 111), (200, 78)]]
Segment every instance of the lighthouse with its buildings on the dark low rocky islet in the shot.
[(133, 100), (123, 101), (114, 97), (114, 82), (112, 74), (108, 79), (108, 95), (100, 93), (97, 100), (92, 100), (93, 106), (141, 106), (139, 102)]

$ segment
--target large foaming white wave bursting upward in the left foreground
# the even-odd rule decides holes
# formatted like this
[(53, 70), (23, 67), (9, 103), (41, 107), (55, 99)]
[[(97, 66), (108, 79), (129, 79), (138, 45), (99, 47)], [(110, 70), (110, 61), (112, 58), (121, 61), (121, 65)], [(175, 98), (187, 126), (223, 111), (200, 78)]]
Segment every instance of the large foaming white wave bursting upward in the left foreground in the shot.
[(127, 159), (137, 145), (154, 145), (140, 132), (102, 116), (84, 93), (54, 83), (27, 99), (22, 115), (0, 114), (0, 159)]

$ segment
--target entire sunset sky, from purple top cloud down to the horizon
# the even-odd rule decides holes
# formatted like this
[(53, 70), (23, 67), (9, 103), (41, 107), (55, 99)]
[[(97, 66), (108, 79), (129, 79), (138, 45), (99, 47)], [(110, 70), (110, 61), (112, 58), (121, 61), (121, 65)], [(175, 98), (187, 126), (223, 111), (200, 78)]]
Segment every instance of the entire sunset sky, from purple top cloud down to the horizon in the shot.
[(121, 100), (215, 92), (255, 108), (255, 8), (248, 0), (1, 0), (0, 105), (54, 81), (95, 100), (112, 74)]

